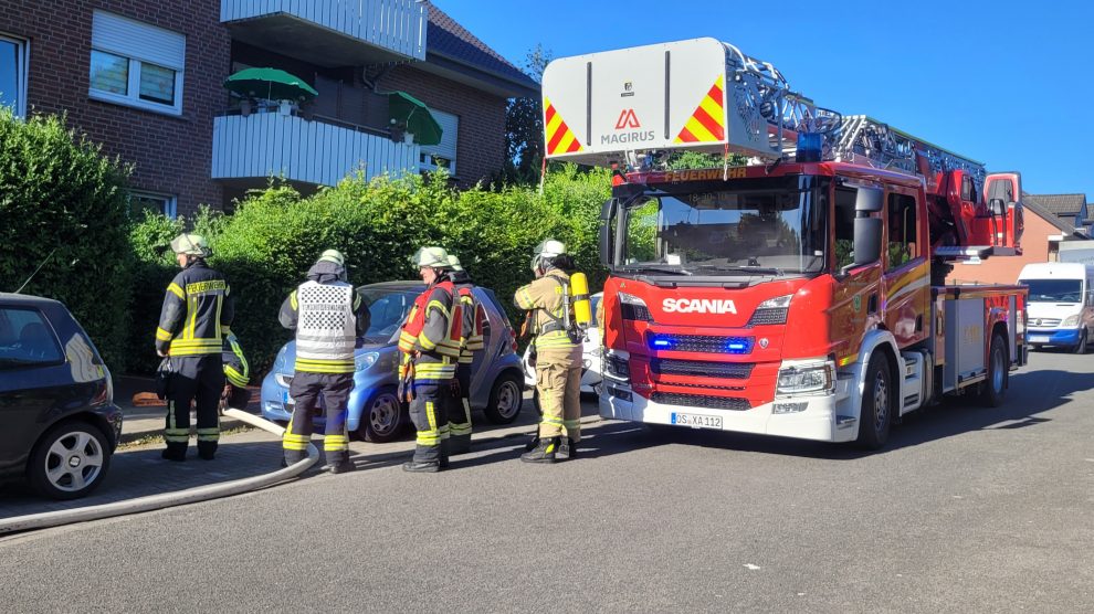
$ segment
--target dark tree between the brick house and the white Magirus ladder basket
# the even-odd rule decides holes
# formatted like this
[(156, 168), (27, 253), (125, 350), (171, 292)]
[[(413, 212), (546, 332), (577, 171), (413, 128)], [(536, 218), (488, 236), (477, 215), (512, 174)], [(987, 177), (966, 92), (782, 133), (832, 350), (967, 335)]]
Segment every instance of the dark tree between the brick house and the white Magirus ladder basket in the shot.
[[(528, 52), (524, 72), (539, 83), (544, 68), (554, 59), (541, 44)], [(503, 182), (508, 184), (533, 184), (539, 181), (540, 165), (544, 160), (544, 109), (537, 97), (513, 98), (505, 109), (506, 162), (502, 171)]]

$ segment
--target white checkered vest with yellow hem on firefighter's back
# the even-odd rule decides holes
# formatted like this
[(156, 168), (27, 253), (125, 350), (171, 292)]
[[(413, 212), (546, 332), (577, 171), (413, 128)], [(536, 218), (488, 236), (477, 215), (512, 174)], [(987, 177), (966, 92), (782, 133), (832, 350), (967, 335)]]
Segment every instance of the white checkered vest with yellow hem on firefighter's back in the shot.
[(353, 373), (357, 343), (354, 287), (345, 282), (305, 282), (296, 289), (294, 298), (299, 310), (296, 370)]

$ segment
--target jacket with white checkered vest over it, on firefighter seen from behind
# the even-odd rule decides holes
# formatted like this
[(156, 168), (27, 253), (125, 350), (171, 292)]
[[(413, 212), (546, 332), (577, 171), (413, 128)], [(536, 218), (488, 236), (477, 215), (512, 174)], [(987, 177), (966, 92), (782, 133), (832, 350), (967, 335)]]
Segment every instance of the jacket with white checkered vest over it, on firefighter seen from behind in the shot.
[(344, 274), (334, 263), (316, 263), (281, 306), (282, 326), (296, 330), (296, 371), (354, 372), (357, 337), (370, 318), (365, 298), (341, 280)]

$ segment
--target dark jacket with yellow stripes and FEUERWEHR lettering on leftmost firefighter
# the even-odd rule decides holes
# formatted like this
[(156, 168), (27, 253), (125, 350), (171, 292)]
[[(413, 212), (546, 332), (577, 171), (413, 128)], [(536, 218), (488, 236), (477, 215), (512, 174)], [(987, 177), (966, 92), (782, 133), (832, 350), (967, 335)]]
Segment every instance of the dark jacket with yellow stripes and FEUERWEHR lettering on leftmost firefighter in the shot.
[(230, 292), (224, 276), (206, 261), (191, 261), (167, 286), (156, 349), (171, 356), (220, 353), (234, 316)]

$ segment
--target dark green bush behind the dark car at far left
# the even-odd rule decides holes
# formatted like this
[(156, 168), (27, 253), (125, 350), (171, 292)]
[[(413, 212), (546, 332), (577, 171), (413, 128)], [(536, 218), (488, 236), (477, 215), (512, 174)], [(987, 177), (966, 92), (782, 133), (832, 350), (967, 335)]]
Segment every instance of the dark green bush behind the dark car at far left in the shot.
[(0, 106), (0, 290), (45, 262), (23, 294), (65, 303), (115, 373), (129, 327), (128, 172), (63, 117), (23, 121)]

